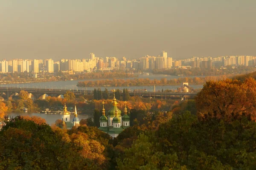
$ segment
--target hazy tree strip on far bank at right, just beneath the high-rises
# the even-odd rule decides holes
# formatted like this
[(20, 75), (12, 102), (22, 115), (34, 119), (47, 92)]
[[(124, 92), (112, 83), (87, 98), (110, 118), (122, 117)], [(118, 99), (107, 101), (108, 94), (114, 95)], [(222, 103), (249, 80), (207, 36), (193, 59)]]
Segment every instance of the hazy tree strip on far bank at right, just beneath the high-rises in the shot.
[(255, 67), (252, 66), (238, 66), (232, 67), (227, 66), (225, 69), (221, 68), (211, 68), (211, 69), (204, 69), (204, 68), (175, 68), (169, 70), (154, 70), (152, 73), (154, 74), (168, 74), (168, 75), (185, 75), (185, 76), (216, 76), (216, 75), (228, 75), (228, 74), (247, 74), (250, 72), (256, 71)]

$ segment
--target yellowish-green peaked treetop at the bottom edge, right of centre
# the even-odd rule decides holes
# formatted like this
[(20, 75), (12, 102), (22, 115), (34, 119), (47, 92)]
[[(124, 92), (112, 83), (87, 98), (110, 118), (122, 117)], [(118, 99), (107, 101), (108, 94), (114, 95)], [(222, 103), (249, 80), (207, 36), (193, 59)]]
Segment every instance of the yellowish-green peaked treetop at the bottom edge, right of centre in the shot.
[(143, 134), (140, 135), (140, 138), (134, 142), (131, 148), (125, 150), (124, 159), (117, 159), (117, 164), (120, 170), (186, 169), (185, 166), (180, 166), (175, 153), (165, 154), (157, 151), (149, 137)]

